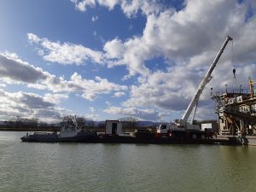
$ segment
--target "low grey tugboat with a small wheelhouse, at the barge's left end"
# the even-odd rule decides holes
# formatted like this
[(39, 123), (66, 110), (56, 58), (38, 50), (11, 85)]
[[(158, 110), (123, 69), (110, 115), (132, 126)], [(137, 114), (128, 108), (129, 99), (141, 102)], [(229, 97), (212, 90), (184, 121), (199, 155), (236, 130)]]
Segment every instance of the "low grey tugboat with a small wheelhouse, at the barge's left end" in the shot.
[(26, 136), (21, 137), (22, 142), (49, 142), (49, 143), (88, 143), (96, 137), (96, 131), (84, 131), (78, 125), (77, 119), (74, 116), (72, 119), (63, 119), (61, 122), (61, 131), (58, 134), (48, 132), (34, 132), (32, 135), (26, 133)]

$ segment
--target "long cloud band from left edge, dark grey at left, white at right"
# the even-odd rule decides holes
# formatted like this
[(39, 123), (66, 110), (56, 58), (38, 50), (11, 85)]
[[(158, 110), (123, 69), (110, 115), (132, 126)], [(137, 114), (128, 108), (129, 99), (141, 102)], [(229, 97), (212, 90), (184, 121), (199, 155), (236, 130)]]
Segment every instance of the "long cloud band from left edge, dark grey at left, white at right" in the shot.
[[(97, 95), (109, 94), (113, 91), (127, 90), (127, 86), (114, 84), (108, 79), (96, 77), (93, 79), (83, 79), (79, 73), (73, 73), (69, 80), (63, 77), (57, 78), (55, 75), (43, 71), (42, 68), (33, 67), (20, 59), (11, 59), (0, 55), (0, 79), (9, 84), (27, 84), (30, 88), (39, 90), (50, 90), (57, 92), (79, 92), (85, 99), (93, 101)], [(48, 95), (48, 98), (65, 98), (66, 96), (55, 94)]]

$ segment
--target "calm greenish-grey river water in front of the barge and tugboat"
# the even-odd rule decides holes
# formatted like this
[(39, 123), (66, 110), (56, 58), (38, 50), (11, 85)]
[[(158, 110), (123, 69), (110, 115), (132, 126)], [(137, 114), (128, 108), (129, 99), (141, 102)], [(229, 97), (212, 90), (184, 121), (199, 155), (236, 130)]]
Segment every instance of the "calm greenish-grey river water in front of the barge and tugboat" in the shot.
[(256, 147), (21, 143), (0, 131), (0, 191), (256, 191)]

